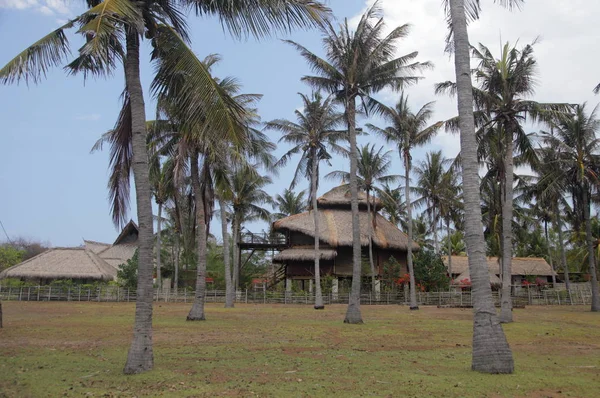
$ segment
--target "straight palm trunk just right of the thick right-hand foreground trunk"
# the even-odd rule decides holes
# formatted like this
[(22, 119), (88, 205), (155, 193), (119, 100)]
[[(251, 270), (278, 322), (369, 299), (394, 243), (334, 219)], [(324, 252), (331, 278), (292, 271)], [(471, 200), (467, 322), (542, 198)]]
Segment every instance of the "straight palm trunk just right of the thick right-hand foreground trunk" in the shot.
[(500, 301), (500, 322), (510, 323), (512, 317), (512, 216), (513, 216), (513, 137), (506, 135), (504, 154), (504, 181), (502, 190), (502, 298)]

